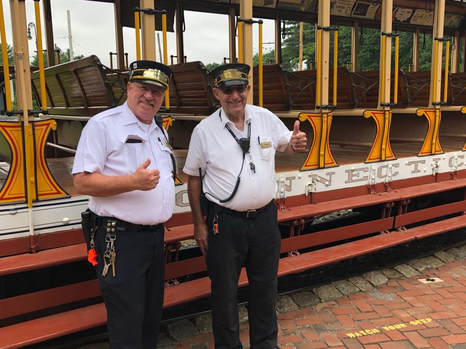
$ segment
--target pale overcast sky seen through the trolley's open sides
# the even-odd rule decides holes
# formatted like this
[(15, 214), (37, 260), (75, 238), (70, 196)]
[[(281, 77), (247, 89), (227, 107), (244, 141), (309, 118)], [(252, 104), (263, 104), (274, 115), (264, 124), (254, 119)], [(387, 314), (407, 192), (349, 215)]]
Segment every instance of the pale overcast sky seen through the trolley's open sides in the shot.
[[(40, 3), (41, 17), (42, 2)], [(112, 3), (93, 2), (87, 0), (51, 0), (53, 40), (61, 49), (68, 48), (67, 10), (70, 11), (71, 35), (75, 55), (88, 56), (94, 54), (105, 65), (110, 65), (109, 52), (116, 52), (114, 5)], [(7, 43), (12, 45), (11, 17), (9, 1), (3, 1)], [(34, 1), (26, 1), (27, 22), (35, 23)], [(185, 11), (186, 31), (184, 32), (184, 54), (188, 61), (201, 61), (204, 64), (218, 62), (229, 56), (228, 49), (228, 16), (213, 15)], [(274, 22), (264, 21), (264, 43), (274, 41)], [(25, 31), (27, 28), (24, 29)], [(29, 53), (32, 57), (35, 48), (35, 33), (29, 41)], [(162, 34), (160, 34), (162, 40)], [(135, 32), (133, 28), (123, 28), (124, 49), (128, 52), (128, 60), (136, 59)], [(42, 31), (42, 43), (45, 49), (45, 32)], [(254, 25), (253, 52), (258, 48), (258, 30)], [(274, 47), (264, 44), (264, 53)], [(168, 63), (170, 55), (176, 55), (175, 33), (167, 33)], [(157, 54), (157, 59), (158, 59)], [(116, 57), (114, 56), (114, 66)]]

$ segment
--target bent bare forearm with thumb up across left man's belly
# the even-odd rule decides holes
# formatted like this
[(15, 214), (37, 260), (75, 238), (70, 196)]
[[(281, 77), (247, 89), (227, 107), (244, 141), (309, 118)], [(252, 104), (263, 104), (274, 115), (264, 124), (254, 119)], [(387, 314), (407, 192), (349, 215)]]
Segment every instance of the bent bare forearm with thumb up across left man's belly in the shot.
[(80, 172), (73, 175), (78, 194), (105, 197), (133, 190), (152, 190), (159, 183), (160, 172), (148, 170), (150, 159), (141, 164), (133, 174), (108, 176), (100, 173)]

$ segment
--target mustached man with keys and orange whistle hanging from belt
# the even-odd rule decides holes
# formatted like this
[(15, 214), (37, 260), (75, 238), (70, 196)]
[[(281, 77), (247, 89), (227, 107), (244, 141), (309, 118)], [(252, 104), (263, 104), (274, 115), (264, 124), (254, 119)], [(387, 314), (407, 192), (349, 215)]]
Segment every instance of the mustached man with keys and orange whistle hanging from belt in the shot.
[(89, 195), (83, 233), (107, 310), (110, 348), (152, 349), (164, 301), (164, 222), (175, 195), (171, 147), (156, 113), (172, 72), (136, 61), (129, 73), (126, 102), (83, 128), (72, 174), (76, 191)]

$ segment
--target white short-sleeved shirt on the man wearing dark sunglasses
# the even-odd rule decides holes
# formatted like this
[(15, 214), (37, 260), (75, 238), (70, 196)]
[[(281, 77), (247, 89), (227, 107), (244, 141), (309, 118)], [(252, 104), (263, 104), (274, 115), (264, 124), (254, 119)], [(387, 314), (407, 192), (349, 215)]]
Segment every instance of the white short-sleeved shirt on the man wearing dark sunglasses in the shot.
[[(206, 194), (206, 197), (237, 211), (265, 206), (275, 197), (275, 151), (286, 149), (292, 132), (275, 114), (264, 108), (246, 106), (243, 132), (236, 129), (222, 109), (202, 120), (191, 135), (183, 172), (199, 176), (201, 168), (202, 174), (205, 174), (204, 192), (211, 193), (218, 199), (230, 196), (241, 170), (243, 152), (225, 127), (227, 123), (237, 138), (248, 136), (250, 124), (250, 156), (256, 173), (250, 169), (250, 158), (246, 154), (241, 181), (233, 199), (220, 204), (211, 195)], [(271, 146), (262, 148), (260, 143), (264, 142), (270, 142)]]

